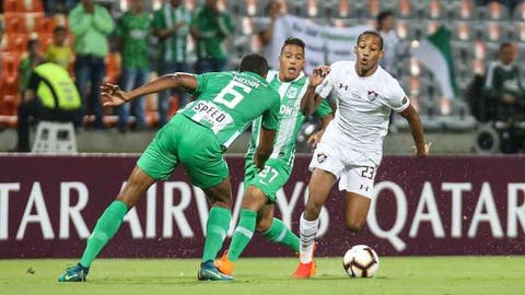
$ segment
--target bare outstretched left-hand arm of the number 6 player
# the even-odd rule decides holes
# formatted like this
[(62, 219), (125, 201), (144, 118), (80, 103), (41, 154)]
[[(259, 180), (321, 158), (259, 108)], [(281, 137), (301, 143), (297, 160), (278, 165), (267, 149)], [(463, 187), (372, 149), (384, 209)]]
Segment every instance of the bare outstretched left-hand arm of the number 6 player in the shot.
[(106, 82), (101, 86), (101, 96), (104, 106), (119, 106), (137, 97), (168, 88), (195, 91), (197, 79), (189, 73), (166, 74), (130, 92), (124, 92), (118, 85)]

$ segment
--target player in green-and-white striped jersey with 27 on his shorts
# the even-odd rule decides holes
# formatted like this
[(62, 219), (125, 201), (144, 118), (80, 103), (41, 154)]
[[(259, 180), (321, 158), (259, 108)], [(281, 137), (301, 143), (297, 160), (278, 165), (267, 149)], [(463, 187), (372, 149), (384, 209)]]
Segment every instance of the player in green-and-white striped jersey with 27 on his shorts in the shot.
[[(304, 74), (304, 43), (299, 38), (288, 38), (281, 48), (279, 71), (270, 71), (266, 80), (275, 87), (281, 97), (279, 125), (273, 142), (273, 152), (259, 169), (253, 158), (256, 149), (260, 145), (260, 127), (262, 118), (253, 125), (253, 135), (245, 160), (244, 185), (246, 188), (242, 203), (238, 225), (232, 237), (232, 243), (222, 258), (215, 261), (219, 270), (231, 275), (234, 263), (248, 245), (254, 232), (260, 232), (269, 240), (285, 245), (299, 252), (299, 237), (293, 234), (280, 220), (273, 217), (273, 204), (277, 201), (276, 192), (290, 178), (295, 157), (295, 139), (304, 122), (305, 116), (301, 113), (301, 98), (306, 88), (312, 85)], [(320, 140), (328, 122), (332, 119), (331, 107), (325, 101), (316, 109), (316, 117), (320, 118), (322, 128), (308, 142)]]

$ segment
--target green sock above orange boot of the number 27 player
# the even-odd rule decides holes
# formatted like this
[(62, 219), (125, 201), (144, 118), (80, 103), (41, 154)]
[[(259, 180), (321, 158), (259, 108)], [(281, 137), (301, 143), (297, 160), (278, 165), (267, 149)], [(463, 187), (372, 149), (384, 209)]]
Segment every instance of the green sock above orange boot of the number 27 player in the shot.
[(228, 250), (228, 260), (236, 262), (243, 253), (255, 232), (257, 222), (257, 212), (252, 210), (241, 210), (238, 225), (233, 233), (232, 243)]

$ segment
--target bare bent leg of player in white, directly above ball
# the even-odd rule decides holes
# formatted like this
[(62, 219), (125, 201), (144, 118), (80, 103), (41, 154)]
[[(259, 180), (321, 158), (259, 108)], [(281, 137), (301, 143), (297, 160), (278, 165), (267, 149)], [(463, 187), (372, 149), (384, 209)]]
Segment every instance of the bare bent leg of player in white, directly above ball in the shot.
[(347, 192), (346, 221), (352, 233), (359, 233), (366, 223), (371, 199), (355, 192)]

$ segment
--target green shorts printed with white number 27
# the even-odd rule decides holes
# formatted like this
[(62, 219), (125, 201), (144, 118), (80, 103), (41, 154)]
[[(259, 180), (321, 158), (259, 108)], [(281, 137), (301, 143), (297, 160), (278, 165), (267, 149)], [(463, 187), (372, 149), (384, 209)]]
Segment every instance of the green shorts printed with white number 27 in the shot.
[(253, 158), (246, 158), (244, 165), (244, 189), (255, 186), (268, 198), (268, 202), (277, 202), (277, 191), (287, 184), (290, 178), (291, 167), (287, 161), (268, 158), (265, 168), (259, 172)]

